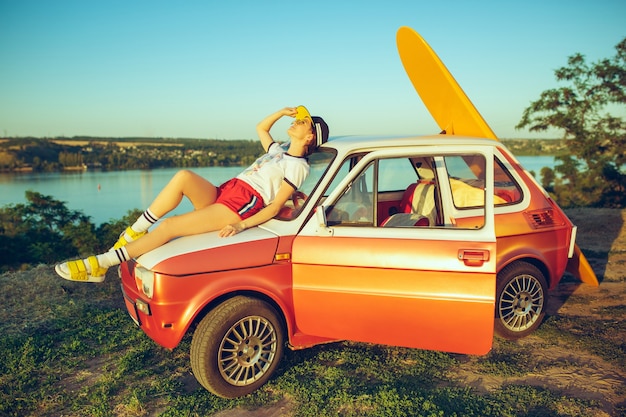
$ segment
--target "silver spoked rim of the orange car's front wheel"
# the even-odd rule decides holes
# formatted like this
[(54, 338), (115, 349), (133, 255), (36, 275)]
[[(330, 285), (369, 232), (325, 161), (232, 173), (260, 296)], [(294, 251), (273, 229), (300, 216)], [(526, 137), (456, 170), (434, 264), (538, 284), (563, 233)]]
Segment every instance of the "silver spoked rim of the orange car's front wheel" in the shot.
[(250, 385), (274, 362), (277, 343), (276, 329), (266, 318), (251, 316), (239, 320), (220, 343), (220, 374), (232, 385)]

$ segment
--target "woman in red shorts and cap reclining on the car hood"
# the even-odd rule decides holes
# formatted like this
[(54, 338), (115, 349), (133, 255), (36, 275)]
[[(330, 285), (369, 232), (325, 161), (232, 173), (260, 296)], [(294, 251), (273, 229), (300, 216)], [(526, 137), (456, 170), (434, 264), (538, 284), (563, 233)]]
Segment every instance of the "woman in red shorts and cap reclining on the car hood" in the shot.
[[(283, 116), (294, 117), (295, 121), (287, 130), (291, 141), (280, 145), (274, 142), (270, 129)], [(266, 154), (236, 178), (216, 187), (191, 171), (179, 171), (109, 252), (61, 263), (55, 267), (57, 274), (70, 281), (102, 282), (109, 267), (175, 237), (215, 230), (219, 230), (220, 237), (233, 236), (276, 216), (304, 182), (309, 173), (305, 156), (310, 147), (327, 139), (328, 127), (321, 118), (311, 117), (303, 106), (286, 107), (263, 119), (257, 125), (257, 134)], [(178, 206), (183, 196), (191, 201), (194, 211), (164, 219), (147, 233), (150, 226)]]

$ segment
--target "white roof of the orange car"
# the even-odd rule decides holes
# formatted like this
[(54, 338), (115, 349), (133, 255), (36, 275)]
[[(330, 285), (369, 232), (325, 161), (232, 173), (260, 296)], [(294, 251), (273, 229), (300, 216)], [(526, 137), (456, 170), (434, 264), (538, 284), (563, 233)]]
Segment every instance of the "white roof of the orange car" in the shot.
[(340, 153), (353, 153), (404, 146), (497, 146), (501, 142), (468, 136), (426, 135), (426, 136), (333, 136), (322, 145), (334, 148)]

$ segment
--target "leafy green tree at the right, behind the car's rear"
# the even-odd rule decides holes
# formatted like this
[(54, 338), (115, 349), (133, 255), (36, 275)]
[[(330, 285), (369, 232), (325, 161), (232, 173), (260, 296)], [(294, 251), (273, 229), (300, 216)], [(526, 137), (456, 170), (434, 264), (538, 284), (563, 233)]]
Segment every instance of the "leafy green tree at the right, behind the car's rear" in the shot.
[[(556, 128), (564, 132), (570, 153), (557, 156), (554, 194), (564, 206), (626, 206), (626, 122), (609, 114), (626, 105), (626, 38), (614, 57), (588, 64), (569, 57), (555, 71), (562, 87), (546, 90), (524, 110), (516, 128)], [(582, 168), (582, 169), (581, 169)]]

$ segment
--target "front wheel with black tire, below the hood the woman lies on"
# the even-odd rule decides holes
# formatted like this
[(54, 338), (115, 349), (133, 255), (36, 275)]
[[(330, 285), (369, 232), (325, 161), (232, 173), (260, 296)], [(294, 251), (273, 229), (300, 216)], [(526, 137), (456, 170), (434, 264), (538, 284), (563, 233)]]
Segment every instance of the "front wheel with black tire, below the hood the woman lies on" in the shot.
[(224, 398), (258, 389), (282, 357), (281, 323), (272, 306), (255, 298), (237, 296), (215, 307), (191, 341), (191, 369), (198, 382)]

